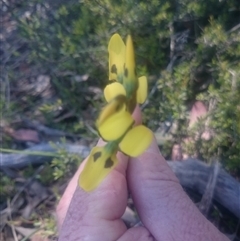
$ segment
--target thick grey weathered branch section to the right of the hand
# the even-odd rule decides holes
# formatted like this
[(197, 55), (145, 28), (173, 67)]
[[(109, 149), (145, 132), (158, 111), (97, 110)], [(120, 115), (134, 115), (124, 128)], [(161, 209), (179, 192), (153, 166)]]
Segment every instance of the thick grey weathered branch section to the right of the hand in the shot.
[[(168, 164), (183, 187), (205, 193), (213, 166), (195, 159), (168, 161)], [(240, 183), (222, 168), (218, 170), (213, 199), (240, 218)]]

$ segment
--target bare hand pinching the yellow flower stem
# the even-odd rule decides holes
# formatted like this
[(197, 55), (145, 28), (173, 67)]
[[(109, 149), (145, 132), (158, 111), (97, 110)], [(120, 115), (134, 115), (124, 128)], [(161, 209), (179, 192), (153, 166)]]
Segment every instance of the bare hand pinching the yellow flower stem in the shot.
[[(141, 123), (139, 108), (133, 116)], [(186, 195), (155, 140), (141, 156), (118, 153), (118, 159), (118, 166), (90, 193), (77, 185), (86, 160), (79, 167), (57, 206), (59, 241), (229, 240)], [(127, 229), (121, 220), (128, 191), (143, 227)]]

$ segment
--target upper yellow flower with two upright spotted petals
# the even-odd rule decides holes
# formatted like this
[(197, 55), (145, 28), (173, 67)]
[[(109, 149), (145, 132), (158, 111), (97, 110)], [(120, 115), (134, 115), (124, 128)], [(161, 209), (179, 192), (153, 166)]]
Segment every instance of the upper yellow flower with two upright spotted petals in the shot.
[[(104, 96), (107, 102), (118, 95), (142, 104), (147, 98), (147, 78), (136, 77), (135, 56), (132, 38), (127, 37), (126, 46), (118, 34), (114, 34), (108, 45), (109, 80), (117, 81), (107, 85)], [(134, 100), (132, 98), (134, 97)], [(133, 103), (136, 104), (136, 103)]]

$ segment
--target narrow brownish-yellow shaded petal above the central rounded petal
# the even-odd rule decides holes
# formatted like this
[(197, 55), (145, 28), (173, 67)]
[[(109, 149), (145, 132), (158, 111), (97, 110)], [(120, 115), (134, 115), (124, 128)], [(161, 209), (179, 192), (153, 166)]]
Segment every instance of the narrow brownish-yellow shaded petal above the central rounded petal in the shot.
[(126, 97), (124, 95), (118, 95), (112, 99), (101, 111), (96, 125), (101, 125), (109, 116), (124, 111), (126, 108)]

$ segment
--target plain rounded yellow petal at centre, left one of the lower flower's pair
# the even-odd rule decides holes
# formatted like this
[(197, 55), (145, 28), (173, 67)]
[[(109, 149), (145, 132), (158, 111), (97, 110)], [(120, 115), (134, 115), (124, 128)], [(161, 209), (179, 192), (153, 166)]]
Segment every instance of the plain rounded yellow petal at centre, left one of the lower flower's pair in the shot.
[(116, 112), (98, 125), (98, 132), (105, 141), (115, 141), (122, 137), (134, 124), (134, 119), (127, 111)]

